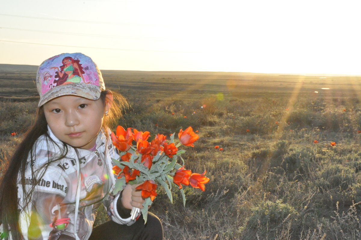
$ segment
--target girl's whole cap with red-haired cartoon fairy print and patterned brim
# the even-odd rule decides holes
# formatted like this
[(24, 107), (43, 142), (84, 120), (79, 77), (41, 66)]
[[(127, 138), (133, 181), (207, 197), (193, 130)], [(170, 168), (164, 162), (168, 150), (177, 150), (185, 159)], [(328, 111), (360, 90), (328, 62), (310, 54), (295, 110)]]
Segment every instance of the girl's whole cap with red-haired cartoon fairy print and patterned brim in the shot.
[(36, 75), (38, 106), (63, 95), (91, 100), (105, 90), (103, 77), (92, 59), (82, 53), (62, 53), (45, 60)]

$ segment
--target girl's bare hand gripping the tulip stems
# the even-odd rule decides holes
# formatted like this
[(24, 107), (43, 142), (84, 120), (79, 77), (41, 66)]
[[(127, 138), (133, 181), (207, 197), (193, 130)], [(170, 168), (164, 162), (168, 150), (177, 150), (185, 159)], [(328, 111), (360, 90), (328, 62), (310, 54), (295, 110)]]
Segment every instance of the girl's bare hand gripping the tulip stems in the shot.
[[(140, 183), (141, 184), (141, 183)], [(142, 197), (142, 190), (136, 190), (140, 184), (130, 185), (127, 184), (122, 193), (122, 204), (126, 209), (132, 209), (133, 207), (142, 209), (143, 202), (145, 202)]]

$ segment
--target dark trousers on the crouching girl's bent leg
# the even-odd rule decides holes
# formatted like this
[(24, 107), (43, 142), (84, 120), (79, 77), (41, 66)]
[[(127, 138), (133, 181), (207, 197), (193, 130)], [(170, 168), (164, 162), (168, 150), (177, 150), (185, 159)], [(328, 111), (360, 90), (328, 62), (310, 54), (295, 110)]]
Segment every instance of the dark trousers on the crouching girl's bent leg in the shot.
[(108, 221), (93, 229), (89, 240), (163, 240), (163, 227), (160, 219), (148, 212), (147, 223), (143, 216), (130, 226)]

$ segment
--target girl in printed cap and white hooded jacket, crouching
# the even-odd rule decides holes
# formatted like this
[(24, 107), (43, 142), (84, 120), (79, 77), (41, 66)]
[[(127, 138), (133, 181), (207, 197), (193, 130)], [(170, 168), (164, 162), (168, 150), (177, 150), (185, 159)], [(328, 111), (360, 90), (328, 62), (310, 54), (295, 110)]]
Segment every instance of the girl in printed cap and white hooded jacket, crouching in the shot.
[[(65, 57), (79, 59), (87, 69), (83, 76), (96, 80), (55, 87), (44, 82), (43, 72)], [(36, 86), (40, 95), (36, 121), (0, 182), (0, 239), (162, 240), (162, 226), (155, 215), (148, 213), (147, 224), (143, 217), (130, 218), (133, 206), (143, 208), (141, 192), (135, 190), (138, 185), (126, 185), (112, 195), (111, 158), (119, 155), (108, 126), (126, 105), (123, 97), (105, 90), (97, 66), (82, 53), (45, 60), (39, 66)], [(92, 231), (100, 204), (111, 221)]]

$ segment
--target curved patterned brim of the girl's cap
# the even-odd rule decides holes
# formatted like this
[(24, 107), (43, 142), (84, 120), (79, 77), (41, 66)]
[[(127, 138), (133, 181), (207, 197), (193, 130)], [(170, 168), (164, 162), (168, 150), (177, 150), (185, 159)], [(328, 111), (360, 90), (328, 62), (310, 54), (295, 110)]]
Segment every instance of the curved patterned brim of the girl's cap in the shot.
[(41, 98), (38, 107), (46, 102), (64, 95), (74, 95), (85, 97), (90, 100), (98, 100), (101, 93), (101, 87), (87, 83), (69, 83), (62, 84), (47, 91)]

